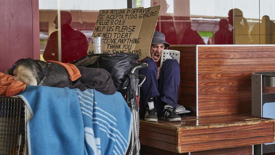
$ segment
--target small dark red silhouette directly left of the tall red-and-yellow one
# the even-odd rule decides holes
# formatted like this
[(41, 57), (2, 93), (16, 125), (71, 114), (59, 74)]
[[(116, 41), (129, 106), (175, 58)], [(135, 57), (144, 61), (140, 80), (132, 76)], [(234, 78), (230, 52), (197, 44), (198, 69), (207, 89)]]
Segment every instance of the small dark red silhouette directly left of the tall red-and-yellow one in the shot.
[(231, 31), (228, 30), (228, 21), (221, 19), (219, 21), (219, 30), (214, 33), (214, 44), (229, 44)]

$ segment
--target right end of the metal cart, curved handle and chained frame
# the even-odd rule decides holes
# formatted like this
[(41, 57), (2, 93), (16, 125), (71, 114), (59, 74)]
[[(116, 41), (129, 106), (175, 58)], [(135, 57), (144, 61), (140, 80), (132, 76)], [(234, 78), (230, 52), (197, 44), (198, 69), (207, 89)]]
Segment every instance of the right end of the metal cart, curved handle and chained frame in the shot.
[[(146, 63), (138, 63), (138, 66), (133, 67), (133, 69), (131, 70), (131, 73), (134, 73), (137, 69), (143, 69), (146, 68), (148, 66), (148, 64)], [(144, 75), (139, 75), (139, 79), (136, 80), (136, 87), (137, 87), (137, 97), (139, 100), (139, 93), (140, 93), (140, 87), (142, 86), (143, 82), (145, 81), (146, 77)], [(129, 92), (129, 88), (128, 89)], [(128, 93), (129, 94), (129, 93)], [(133, 115), (133, 130), (132, 130), (132, 134), (131, 134), (131, 141), (130, 141), (130, 145), (128, 148), (128, 152), (127, 154), (129, 155), (139, 155), (139, 151), (140, 151), (140, 142), (138, 139), (139, 136), (139, 113), (138, 113), (138, 104), (137, 104), (137, 98), (133, 98), (131, 100), (129, 100), (127, 97), (125, 97), (127, 104), (129, 105), (132, 115)]]

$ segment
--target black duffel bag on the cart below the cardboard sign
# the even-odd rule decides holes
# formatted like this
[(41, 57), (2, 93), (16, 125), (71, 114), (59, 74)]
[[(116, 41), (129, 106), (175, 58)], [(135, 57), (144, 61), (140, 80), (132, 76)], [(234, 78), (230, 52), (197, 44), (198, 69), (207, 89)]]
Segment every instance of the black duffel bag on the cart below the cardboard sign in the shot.
[(133, 67), (137, 66), (138, 55), (136, 54), (92, 54), (82, 57), (74, 62), (75, 66), (106, 69), (114, 81), (116, 90), (123, 95), (127, 94), (127, 89), (131, 90), (128, 94), (130, 98), (135, 96), (138, 79), (138, 70), (131, 74)]

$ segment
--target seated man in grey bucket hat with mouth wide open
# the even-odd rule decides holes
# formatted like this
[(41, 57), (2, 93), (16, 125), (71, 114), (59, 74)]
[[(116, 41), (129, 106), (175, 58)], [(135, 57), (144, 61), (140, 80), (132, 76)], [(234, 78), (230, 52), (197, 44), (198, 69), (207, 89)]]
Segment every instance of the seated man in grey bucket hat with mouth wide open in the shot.
[(176, 59), (166, 59), (160, 67), (162, 50), (169, 47), (165, 36), (155, 31), (151, 47), (151, 58), (142, 59), (148, 67), (140, 69), (139, 74), (146, 79), (140, 87), (140, 116), (145, 121), (157, 122), (158, 116), (170, 122), (181, 121), (175, 108), (178, 101), (180, 67)]

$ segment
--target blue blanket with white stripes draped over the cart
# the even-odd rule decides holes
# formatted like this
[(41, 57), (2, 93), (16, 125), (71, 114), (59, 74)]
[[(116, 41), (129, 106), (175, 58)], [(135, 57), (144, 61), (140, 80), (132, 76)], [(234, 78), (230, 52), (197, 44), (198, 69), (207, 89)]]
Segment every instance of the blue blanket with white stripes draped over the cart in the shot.
[(132, 115), (121, 93), (27, 86), (20, 95), (27, 122), (29, 155), (123, 155)]

